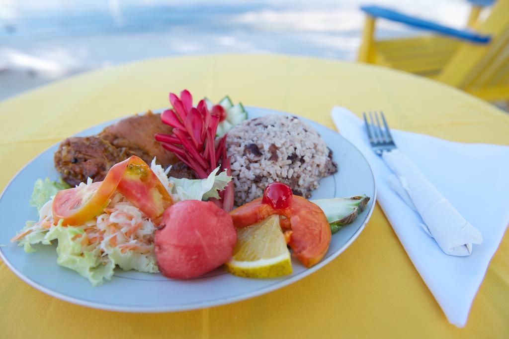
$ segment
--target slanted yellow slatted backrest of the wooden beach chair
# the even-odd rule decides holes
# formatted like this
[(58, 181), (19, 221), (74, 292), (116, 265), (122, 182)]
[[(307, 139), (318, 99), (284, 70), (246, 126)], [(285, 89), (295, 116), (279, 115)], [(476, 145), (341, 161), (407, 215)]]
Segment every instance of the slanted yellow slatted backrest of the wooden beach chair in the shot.
[(487, 100), (509, 98), (509, 0), (495, 3), (478, 32), (490, 43), (462, 43), (438, 80)]

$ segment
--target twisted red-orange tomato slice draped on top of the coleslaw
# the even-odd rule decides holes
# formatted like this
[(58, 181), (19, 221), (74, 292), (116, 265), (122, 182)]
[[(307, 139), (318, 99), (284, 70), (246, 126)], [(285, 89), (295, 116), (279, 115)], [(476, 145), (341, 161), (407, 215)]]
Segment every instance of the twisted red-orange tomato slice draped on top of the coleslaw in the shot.
[(63, 225), (80, 225), (101, 214), (118, 191), (156, 224), (173, 201), (161, 181), (140, 158), (132, 155), (111, 167), (103, 181), (59, 191), (53, 199), (53, 219)]

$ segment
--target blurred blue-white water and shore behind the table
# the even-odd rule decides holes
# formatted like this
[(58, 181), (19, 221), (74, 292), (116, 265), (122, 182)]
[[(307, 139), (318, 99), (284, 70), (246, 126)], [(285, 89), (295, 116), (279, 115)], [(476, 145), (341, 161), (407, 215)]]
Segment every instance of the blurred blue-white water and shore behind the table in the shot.
[[(0, 0), (0, 99), (79, 72), (161, 56), (284, 53), (355, 60), (362, 4), (463, 28), (463, 0)], [(411, 36), (383, 20), (377, 36)]]

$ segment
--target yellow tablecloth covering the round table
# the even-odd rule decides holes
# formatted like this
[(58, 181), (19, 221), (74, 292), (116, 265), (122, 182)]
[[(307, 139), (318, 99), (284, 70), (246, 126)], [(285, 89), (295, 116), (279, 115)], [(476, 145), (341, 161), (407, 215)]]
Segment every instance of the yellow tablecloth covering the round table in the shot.
[[(285, 56), (154, 59), (75, 76), (0, 102), (0, 189), (54, 143), (103, 121), (167, 107), (168, 92), (184, 88), (196, 98), (217, 100), (228, 93), (245, 105), (290, 112), (331, 128), (334, 105), (356, 114), (381, 109), (394, 128), (509, 145), (506, 113), (410, 74)], [(509, 236), (463, 329), (447, 322), (378, 205), (359, 238), (333, 262), (286, 288), (234, 304), (167, 314), (95, 310), (33, 289), (4, 263), (0, 298), (2, 338), (507, 338)]]

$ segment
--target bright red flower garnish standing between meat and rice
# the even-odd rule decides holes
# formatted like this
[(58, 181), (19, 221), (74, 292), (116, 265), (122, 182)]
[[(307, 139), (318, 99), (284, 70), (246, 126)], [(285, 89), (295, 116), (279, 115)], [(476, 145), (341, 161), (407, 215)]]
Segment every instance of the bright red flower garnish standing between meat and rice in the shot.
[[(192, 95), (188, 90), (180, 93), (180, 98), (169, 93), (173, 109), (161, 114), (161, 121), (173, 127), (171, 135), (157, 133), (155, 138), (165, 149), (173, 152), (184, 164), (192, 169), (196, 177), (206, 178), (217, 166), (231, 175), (230, 158), (226, 154), (226, 138), (215, 140), (217, 124), (224, 119), (224, 109), (216, 105), (211, 112), (205, 100), (200, 100), (196, 107), (192, 105)], [(233, 209), (233, 182), (219, 193), (220, 200), (214, 202), (223, 210)]]

